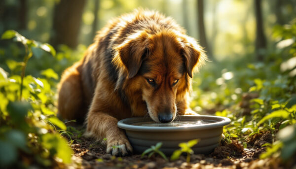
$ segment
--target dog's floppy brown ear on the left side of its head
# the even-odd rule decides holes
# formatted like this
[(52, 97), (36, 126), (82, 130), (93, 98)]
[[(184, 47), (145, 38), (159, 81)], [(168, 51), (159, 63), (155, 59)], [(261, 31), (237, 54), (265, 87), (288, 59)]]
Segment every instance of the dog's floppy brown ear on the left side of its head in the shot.
[(131, 34), (123, 43), (114, 48), (113, 62), (117, 67), (121, 67), (123, 64), (127, 70), (128, 78), (132, 78), (138, 73), (150, 48), (146, 31)]

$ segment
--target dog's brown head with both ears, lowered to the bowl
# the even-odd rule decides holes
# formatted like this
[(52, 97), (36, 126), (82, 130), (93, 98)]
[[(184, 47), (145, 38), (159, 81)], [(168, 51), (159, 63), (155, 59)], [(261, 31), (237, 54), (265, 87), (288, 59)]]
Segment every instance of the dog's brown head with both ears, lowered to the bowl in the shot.
[[(133, 83), (147, 104), (150, 118), (161, 123), (175, 119), (177, 104), (190, 89), (193, 71), (206, 60), (193, 38), (172, 31), (131, 34), (114, 50), (113, 63), (124, 68), (120, 77)], [(119, 79), (117, 86), (123, 81)]]

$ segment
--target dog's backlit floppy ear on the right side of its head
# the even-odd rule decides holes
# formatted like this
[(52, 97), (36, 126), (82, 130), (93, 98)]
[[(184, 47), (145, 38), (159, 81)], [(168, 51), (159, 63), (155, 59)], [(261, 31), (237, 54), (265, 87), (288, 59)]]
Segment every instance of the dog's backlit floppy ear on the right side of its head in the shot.
[(192, 78), (193, 72), (207, 61), (207, 56), (203, 48), (189, 36), (181, 38), (181, 52), (185, 59), (187, 74)]

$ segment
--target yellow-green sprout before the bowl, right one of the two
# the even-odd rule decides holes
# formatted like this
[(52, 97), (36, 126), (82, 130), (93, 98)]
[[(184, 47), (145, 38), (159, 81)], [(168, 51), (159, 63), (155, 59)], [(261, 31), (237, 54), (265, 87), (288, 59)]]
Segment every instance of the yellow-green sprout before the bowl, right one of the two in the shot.
[(171, 156), (171, 160), (177, 160), (180, 158), (182, 153), (187, 153), (187, 157), (186, 157), (186, 162), (190, 163), (190, 156), (191, 154), (193, 154), (193, 150), (191, 149), (191, 147), (193, 147), (195, 144), (197, 144), (199, 141), (199, 139), (192, 139), (188, 142), (181, 142), (179, 144), (179, 147), (181, 147), (181, 149), (179, 150), (175, 150)]

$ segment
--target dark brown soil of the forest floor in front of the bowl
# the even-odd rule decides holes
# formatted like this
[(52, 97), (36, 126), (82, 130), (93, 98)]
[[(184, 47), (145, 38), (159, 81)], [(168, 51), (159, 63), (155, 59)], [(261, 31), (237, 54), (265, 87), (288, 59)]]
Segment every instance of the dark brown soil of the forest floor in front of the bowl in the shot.
[[(83, 127), (78, 127), (83, 131)], [(72, 137), (71, 148), (74, 150), (74, 163), (69, 168), (85, 169), (281, 169), (279, 159), (259, 159), (265, 151), (263, 144), (272, 141), (270, 133), (253, 135), (248, 139), (248, 148), (236, 140), (231, 143), (221, 142), (209, 155), (193, 154), (190, 163), (181, 156), (176, 161), (166, 161), (160, 156), (141, 157), (132, 154), (127, 157), (114, 157), (106, 153), (106, 147), (92, 138)]]

